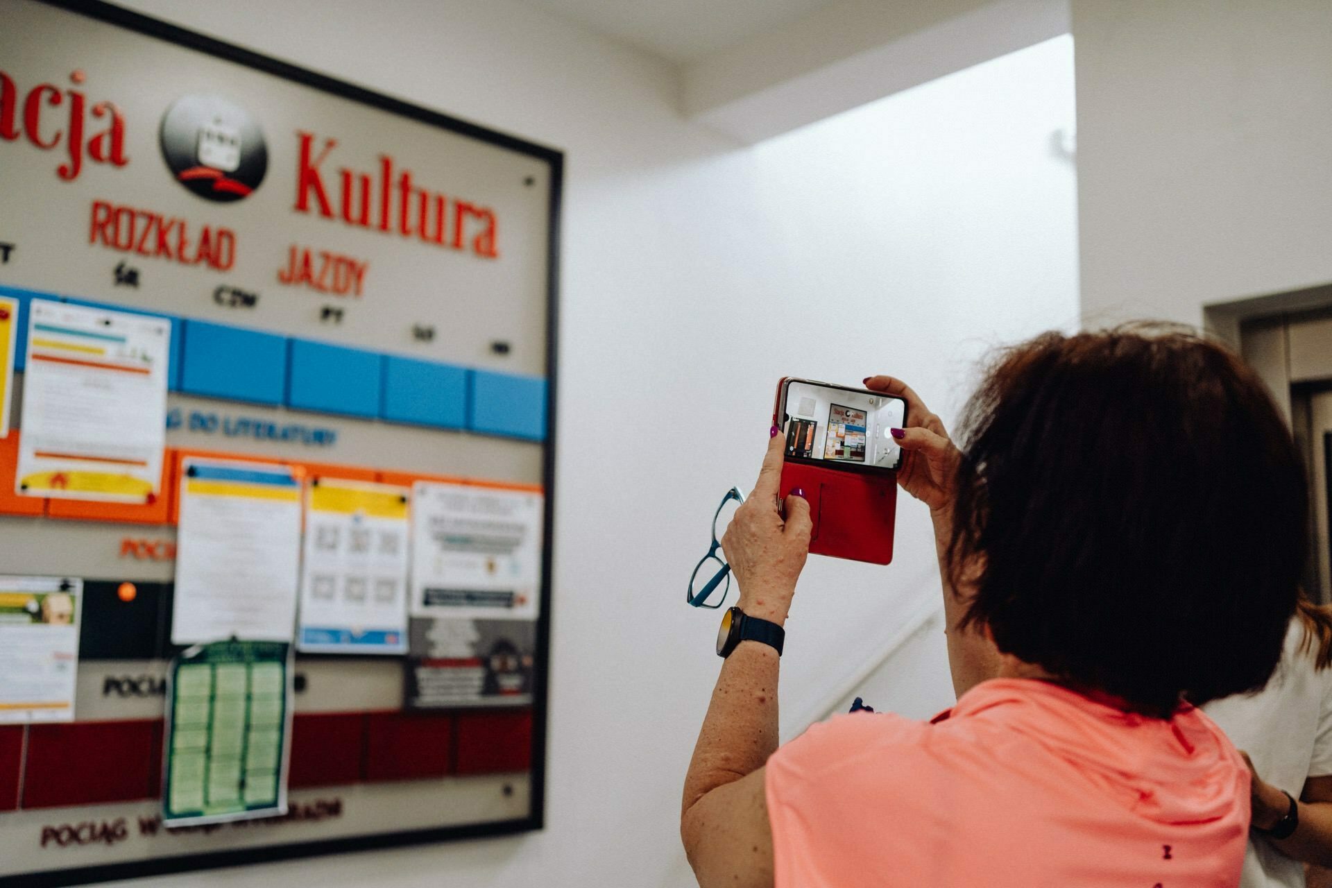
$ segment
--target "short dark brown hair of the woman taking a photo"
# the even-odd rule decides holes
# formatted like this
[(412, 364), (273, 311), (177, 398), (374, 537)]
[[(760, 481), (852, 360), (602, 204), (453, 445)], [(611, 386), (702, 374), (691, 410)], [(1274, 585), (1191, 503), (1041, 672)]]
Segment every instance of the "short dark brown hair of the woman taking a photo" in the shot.
[(959, 435), (947, 570), (966, 622), (1168, 716), (1261, 688), (1308, 554), (1308, 493), (1263, 382), (1176, 328), (999, 354)]

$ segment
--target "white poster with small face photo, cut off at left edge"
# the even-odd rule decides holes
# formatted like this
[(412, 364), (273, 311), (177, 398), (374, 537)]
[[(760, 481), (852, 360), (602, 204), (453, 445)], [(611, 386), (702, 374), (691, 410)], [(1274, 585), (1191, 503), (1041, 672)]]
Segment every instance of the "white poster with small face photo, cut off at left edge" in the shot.
[(0, 576), (0, 723), (72, 722), (83, 580)]

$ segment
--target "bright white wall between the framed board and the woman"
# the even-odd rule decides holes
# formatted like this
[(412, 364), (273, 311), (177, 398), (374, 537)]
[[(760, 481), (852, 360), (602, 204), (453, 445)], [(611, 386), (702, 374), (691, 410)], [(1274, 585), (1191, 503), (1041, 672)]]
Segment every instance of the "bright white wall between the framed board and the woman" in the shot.
[[(1074, 170), (1048, 149), (1071, 43), (742, 150), (679, 120), (662, 64), (511, 0), (128, 5), (569, 152), (547, 829), (139, 884), (689, 884), (678, 797), (718, 660), (717, 612), (682, 599), (714, 505), (753, 483), (779, 377), (892, 371), (951, 415), (979, 351), (1076, 320)], [(583, 454), (598, 417), (626, 443)], [(935, 607), (932, 551), (903, 502), (890, 568), (810, 564), (786, 735)]]

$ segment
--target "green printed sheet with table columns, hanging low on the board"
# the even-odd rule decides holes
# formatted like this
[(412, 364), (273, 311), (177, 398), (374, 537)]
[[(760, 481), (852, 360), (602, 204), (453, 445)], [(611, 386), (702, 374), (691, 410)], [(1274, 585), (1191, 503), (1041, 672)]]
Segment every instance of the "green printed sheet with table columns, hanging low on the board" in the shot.
[(286, 813), (290, 644), (197, 644), (172, 663), (163, 821)]

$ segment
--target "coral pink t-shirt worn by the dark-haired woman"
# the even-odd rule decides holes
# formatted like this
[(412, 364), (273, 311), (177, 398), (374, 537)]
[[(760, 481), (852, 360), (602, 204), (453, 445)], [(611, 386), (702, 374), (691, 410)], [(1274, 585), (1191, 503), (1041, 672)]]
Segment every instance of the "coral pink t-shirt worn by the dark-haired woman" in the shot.
[(1199, 710), (994, 679), (930, 723), (854, 712), (778, 750), (777, 888), (1232, 888), (1248, 784)]

